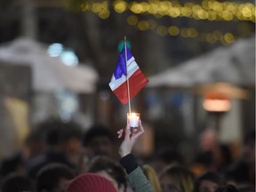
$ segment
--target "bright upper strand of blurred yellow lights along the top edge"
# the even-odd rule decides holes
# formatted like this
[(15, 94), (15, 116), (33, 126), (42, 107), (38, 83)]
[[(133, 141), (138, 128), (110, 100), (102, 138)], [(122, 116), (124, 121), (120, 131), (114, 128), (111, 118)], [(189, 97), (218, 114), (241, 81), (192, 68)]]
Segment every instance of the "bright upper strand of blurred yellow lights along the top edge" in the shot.
[[(81, 4), (83, 12), (92, 11), (100, 18), (110, 16), (108, 2)], [(255, 22), (255, 5), (252, 3), (237, 4), (234, 2), (220, 3), (215, 0), (204, 0), (202, 4), (151, 0), (149, 2), (131, 2), (116, 0), (113, 8), (117, 13), (131, 11), (135, 14), (151, 14), (156, 18), (169, 16), (171, 18), (188, 17), (195, 20), (246, 20)]]

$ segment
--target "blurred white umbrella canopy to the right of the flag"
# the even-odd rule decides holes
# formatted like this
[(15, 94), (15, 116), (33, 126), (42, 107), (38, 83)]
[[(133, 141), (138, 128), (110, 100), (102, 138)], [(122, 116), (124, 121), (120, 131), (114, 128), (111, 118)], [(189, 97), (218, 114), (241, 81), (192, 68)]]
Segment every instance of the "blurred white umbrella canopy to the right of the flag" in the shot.
[(169, 68), (149, 78), (148, 87), (179, 86), (226, 82), (255, 84), (255, 38), (237, 40), (176, 68)]

